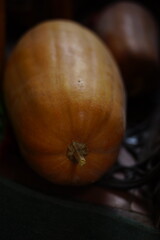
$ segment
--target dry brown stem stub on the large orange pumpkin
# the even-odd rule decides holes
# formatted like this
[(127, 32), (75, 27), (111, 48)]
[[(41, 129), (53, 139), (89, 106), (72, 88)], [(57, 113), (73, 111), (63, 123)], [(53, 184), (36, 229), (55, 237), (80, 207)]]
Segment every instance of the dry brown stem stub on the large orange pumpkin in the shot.
[(72, 142), (67, 149), (67, 157), (75, 163), (78, 163), (80, 166), (86, 164), (86, 159), (88, 151), (87, 147), (83, 143)]

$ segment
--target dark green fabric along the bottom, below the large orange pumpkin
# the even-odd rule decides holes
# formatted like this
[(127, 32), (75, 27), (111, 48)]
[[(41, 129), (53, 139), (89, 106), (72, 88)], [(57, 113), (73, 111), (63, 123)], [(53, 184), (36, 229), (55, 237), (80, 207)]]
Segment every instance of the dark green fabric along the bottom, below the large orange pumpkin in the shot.
[(45, 196), (0, 179), (0, 240), (159, 240), (110, 208)]

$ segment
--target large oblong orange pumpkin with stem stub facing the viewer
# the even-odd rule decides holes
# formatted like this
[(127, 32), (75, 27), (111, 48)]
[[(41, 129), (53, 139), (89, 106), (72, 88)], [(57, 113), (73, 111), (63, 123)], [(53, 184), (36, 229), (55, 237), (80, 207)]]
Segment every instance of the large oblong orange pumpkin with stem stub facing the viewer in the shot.
[(110, 52), (89, 30), (60, 20), (33, 28), (11, 54), (3, 87), (21, 153), (44, 178), (84, 185), (116, 161), (124, 87)]

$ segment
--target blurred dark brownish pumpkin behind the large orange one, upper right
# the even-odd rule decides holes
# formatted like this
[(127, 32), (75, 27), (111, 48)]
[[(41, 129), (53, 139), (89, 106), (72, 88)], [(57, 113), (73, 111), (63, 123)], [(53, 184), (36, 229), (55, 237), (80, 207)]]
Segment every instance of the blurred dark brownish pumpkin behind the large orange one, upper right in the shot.
[(104, 8), (90, 24), (114, 55), (129, 96), (156, 88), (159, 31), (149, 11), (136, 3), (118, 2)]

